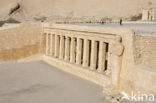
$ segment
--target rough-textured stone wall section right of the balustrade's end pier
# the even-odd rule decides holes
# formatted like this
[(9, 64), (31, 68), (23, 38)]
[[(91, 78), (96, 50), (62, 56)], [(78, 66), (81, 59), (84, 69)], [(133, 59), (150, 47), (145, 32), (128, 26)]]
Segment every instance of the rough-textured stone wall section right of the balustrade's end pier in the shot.
[(134, 54), (137, 65), (142, 64), (156, 70), (156, 36), (135, 35)]

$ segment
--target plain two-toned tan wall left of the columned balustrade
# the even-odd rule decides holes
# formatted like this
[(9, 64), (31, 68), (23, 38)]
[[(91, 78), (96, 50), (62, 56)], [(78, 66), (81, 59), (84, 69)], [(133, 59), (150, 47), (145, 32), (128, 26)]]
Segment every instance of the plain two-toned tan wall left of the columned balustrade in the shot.
[(40, 52), (41, 24), (0, 28), (0, 61), (17, 60)]

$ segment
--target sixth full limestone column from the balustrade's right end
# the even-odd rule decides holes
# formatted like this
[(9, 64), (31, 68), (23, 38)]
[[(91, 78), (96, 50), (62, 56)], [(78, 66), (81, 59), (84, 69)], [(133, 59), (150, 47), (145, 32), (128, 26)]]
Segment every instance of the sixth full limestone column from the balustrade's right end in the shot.
[(70, 42), (69, 37), (66, 37), (65, 39), (65, 60), (69, 61), (69, 53), (70, 53)]

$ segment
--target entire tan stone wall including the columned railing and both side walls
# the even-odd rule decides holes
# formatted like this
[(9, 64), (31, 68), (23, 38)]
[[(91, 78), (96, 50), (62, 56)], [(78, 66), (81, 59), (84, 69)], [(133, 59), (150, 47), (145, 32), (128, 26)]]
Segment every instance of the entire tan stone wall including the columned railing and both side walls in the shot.
[[(151, 42), (144, 42), (147, 40)], [(140, 59), (135, 57), (138, 50), (144, 50), (139, 55), (154, 67), (155, 57), (147, 57), (154, 55), (154, 44), (154, 36), (136, 37), (125, 28), (20, 24), (0, 29), (0, 61), (43, 60), (106, 88), (155, 94), (155, 68), (135, 62)]]

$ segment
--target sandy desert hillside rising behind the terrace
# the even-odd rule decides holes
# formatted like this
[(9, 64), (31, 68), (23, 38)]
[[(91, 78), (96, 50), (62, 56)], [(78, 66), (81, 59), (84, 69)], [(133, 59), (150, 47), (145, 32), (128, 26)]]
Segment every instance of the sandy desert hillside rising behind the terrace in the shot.
[(154, 7), (156, 0), (0, 0), (0, 20), (131, 18)]

